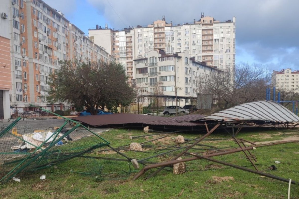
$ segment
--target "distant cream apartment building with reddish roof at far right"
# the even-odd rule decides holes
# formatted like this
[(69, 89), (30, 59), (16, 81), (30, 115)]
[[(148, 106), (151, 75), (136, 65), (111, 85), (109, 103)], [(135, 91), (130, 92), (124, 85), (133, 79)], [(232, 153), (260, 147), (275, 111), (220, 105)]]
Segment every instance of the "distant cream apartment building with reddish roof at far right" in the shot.
[(272, 85), (283, 90), (299, 91), (299, 70), (292, 71), (290, 68), (273, 71)]

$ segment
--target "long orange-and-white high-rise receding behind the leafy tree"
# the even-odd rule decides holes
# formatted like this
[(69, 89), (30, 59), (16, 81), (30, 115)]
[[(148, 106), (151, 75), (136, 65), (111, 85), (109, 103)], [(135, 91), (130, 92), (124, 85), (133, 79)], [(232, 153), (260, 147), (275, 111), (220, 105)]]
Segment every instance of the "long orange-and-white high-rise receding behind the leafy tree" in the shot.
[(5, 30), (9, 34), (7, 37), (1, 30), (0, 36), (10, 38), (11, 111), (33, 110), (29, 103), (52, 111), (70, 108), (63, 102), (50, 104), (46, 101), (49, 74), (58, 69), (62, 60), (108, 61), (113, 60), (112, 56), (83, 36), (84, 32), (70, 23), (63, 13), (45, 2), (5, 1), (7, 6), (4, 7), (8, 10), (0, 10), (0, 13), (7, 13)]

